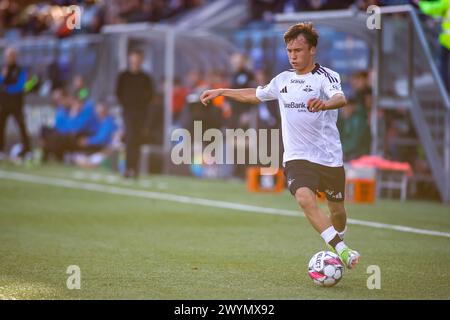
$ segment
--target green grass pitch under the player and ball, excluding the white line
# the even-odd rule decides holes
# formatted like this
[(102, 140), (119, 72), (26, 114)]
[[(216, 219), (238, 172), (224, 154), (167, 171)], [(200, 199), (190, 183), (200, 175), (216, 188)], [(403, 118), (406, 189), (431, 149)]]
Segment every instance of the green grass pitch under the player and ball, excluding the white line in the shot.
[[(3, 172), (111, 185), (98, 176), (76, 178), (75, 170), (0, 165)], [(152, 176), (146, 185), (113, 183), (297, 208), (287, 192), (250, 194), (240, 182)], [(450, 232), (450, 209), (437, 203), (384, 200), (347, 210), (353, 219)], [(450, 238), (350, 225), (346, 242), (361, 263), (337, 286), (320, 288), (306, 269), (325, 246), (304, 217), (0, 178), (0, 299), (450, 298)], [(66, 286), (69, 265), (81, 269), (80, 290)], [(367, 288), (370, 265), (380, 267), (379, 290)]]

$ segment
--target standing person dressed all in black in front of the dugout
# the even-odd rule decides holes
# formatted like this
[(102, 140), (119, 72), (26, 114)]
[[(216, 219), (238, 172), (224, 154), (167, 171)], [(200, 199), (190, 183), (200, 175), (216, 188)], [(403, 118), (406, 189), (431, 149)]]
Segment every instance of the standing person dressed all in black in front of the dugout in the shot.
[(126, 178), (137, 178), (139, 154), (145, 120), (153, 96), (153, 80), (142, 70), (144, 55), (132, 51), (128, 56), (128, 70), (119, 74), (116, 95), (122, 105), (125, 124)]

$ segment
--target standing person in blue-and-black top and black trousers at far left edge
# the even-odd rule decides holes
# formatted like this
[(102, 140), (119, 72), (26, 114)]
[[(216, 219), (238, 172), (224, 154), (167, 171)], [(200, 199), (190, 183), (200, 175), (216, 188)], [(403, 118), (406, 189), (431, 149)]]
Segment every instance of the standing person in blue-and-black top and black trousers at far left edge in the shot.
[(19, 157), (24, 157), (30, 151), (30, 139), (23, 114), (27, 73), (24, 68), (17, 65), (16, 49), (6, 48), (4, 57), (5, 65), (0, 73), (0, 158), (4, 157), (5, 129), (10, 115), (13, 116), (19, 127), (23, 144)]

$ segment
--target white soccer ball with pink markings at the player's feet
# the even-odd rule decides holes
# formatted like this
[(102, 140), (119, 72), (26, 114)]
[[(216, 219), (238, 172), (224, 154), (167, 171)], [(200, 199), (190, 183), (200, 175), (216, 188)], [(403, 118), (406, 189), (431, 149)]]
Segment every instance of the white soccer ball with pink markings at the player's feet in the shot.
[(344, 274), (344, 265), (338, 255), (331, 251), (317, 252), (308, 264), (308, 274), (315, 284), (332, 287)]

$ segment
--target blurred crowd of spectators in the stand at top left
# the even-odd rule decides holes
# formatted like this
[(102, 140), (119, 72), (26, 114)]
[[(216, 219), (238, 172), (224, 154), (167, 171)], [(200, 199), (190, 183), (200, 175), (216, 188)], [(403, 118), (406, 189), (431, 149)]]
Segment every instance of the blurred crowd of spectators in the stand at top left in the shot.
[[(31, 2), (31, 1), (30, 1)], [(200, 6), (201, 0), (0, 0), (0, 36), (17, 39), (21, 35), (53, 34), (67, 37), (77, 33), (97, 33), (104, 24), (158, 22)], [(74, 21), (71, 5), (81, 7), (80, 29), (67, 25)]]

